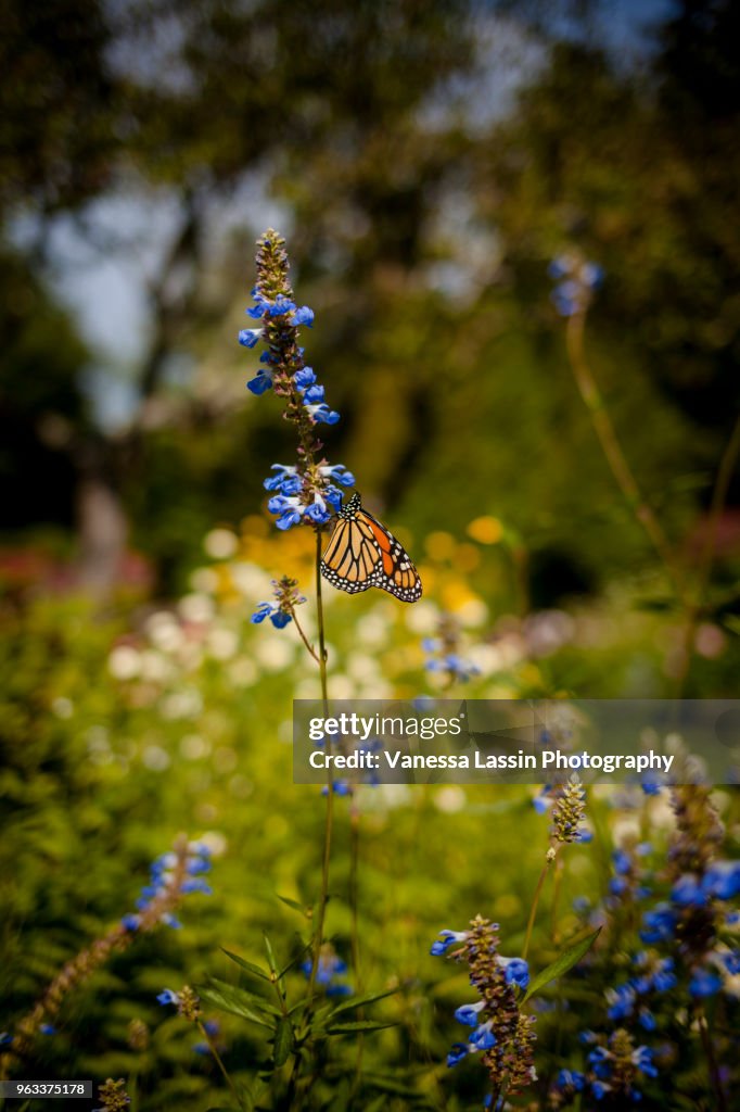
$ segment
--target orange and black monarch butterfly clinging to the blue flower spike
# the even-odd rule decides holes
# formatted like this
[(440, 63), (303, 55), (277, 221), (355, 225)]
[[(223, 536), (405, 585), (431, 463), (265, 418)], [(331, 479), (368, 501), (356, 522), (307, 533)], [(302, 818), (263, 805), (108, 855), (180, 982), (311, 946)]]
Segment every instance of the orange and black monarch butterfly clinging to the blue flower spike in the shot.
[(321, 574), (332, 587), (350, 595), (380, 587), (402, 603), (421, 597), (421, 579), (409, 554), (384, 525), (362, 509), (357, 493), (339, 510)]

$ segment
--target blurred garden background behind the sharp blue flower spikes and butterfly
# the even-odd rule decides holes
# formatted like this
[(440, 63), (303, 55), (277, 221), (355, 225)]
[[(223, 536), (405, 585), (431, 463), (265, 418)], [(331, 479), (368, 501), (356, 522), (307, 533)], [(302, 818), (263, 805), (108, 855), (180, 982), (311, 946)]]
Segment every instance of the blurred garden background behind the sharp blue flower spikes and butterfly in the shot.
[[(410, 606), (326, 587), (332, 697), (737, 695), (739, 24), (730, 0), (3, 7), (0, 1027), (133, 909), (180, 832), (213, 856), (183, 929), (64, 993), (13, 1075), (224, 1105), (212, 1052), (156, 997), (249, 981), (220, 947), (263, 963), (267, 931), (287, 963), (310, 933), (326, 801), (291, 783), (290, 716), (318, 673), (294, 624), (249, 620), (287, 574), (317, 637), (313, 533), (276, 530), (262, 486), (291, 431), (236, 340), (267, 227), (316, 314), (301, 342), (342, 417), (327, 451), (424, 584)], [(563, 256), (602, 277), (553, 299)], [(480, 1106), (483, 1071), (444, 1064), (470, 989), (429, 947), (480, 913), (521, 953), (537, 791), (334, 801), (327, 937), (357, 993), (394, 990), (393, 1025), (359, 1065), (339, 1036), (307, 1106)], [(606, 922), (614, 846), (650, 837), (660, 888), (667, 794), (588, 805), (538, 966)], [(734, 790), (714, 805), (731, 858)], [(566, 1101), (576, 1013), (607, 1030), (638, 927), (626, 914), (596, 959), (611, 982), (546, 993), (540, 1082), (512, 1106)], [(304, 991), (300, 962), (288, 981)], [(710, 1019), (730, 1064), (707, 1070), (687, 1003), (682, 1033), (658, 1025), (672, 1050), (643, 1106), (733, 1106), (729, 981)], [(219, 1022), (242, 1099), (290, 1106), (254, 1080), (270, 1031)]]

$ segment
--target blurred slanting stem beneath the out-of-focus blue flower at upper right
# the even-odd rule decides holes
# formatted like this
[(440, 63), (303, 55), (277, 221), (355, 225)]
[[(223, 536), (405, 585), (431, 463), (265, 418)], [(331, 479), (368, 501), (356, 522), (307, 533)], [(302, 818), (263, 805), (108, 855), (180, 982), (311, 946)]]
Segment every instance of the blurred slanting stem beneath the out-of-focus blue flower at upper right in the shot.
[(636, 520), (644, 529), (652, 546), (658, 553), (658, 556), (660, 557), (660, 560), (663, 564), (671, 583), (673, 584), (673, 589), (676, 590), (678, 598), (684, 606), (688, 606), (683, 573), (673, 559), (671, 546), (666, 534), (663, 533), (660, 522), (653, 513), (652, 507), (642, 497), (642, 493), (637, 479), (634, 478), (632, 468), (628, 464), (627, 457), (622, 451), (622, 446), (619, 443), (619, 438), (611, 417), (609, 416), (603, 396), (597, 386), (596, 379), (593, 378), (591, 368), (589, 367), (586, 358), (583, 348), (584, 324), (586, 314), (582, 311), (576, 312), (572, 317), (568, 318), (566, 329), (568, 357), (570, 359), (570, 366), (573, 371), (576, 385), (578, 386), (586, 408), (589, 411), (593, 430), (599, 438), (599, 443), (601, 444), (601, 448), (607, 463), (609, 464), (611, 474), (614, 476), (620, 490), (624, 495), (624, 499), (632, 509)]

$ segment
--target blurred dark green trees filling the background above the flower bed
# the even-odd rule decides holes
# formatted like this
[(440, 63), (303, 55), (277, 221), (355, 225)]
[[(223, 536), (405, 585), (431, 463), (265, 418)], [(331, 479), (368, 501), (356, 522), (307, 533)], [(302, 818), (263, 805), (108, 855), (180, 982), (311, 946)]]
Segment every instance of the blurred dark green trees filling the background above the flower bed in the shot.
[[(301, 298), (317, 309), (310, 357), (346, 418), (332, 450), (369, 496), (421, 528), (441, 517), (459, 532), (493, 512), (547, 566), (570, 566), (562, 587), (573, 575), (599, 587), (650, 559), (549, 304), (548, 260), (577, 244), (607, 271), (588, 337), (598, 377), (649, 499), (686, 537), (738, 404), (737, 16), (677, 3), (630, 60), (624, 28), (597, 9), (600, 21), (568, 3), (189, 0), (174, 13), (86, 0), (54, 19), (10, 6), (4, 49), (16, 69), (26, 59), (26, 85), (6, 90), (17, 158), (0, 177), (6, 229), (36, 228), (31, 267), (46, 272), (62, 210), (118, 257), (127, 231), (118, 247), (98, 244), (91, 198), (149, 198), (173, 218), (147, 278), (138, 401), (92, 450), (84, 426), (66, 441), (68, 485), (99, 471), (164, 590), (183, 583), (193, 537), (256, 508), (251, 479), (281, 455), (271, 418), (242, 393), (249, 368), (232, 340), (266, 203), (283, 214)], [(51, 49), (56, 34), (74, 66)], [(48, 83), (29, 100), (40, 71)], [(81, 103), (91, 120), (74, 128)], [(87, 357), (71, 334), (37, 342), (41, 393), (54, 366), (79, 391)], [(178, 388), (173, 360), (189, 368)], [(12, 351), (7, 375), (24, 377)], [(48, 471), (42, 444), (22, 466)], [(70, 495), (44, 502), (40, 485), (19, 524), (66, 524)]]

